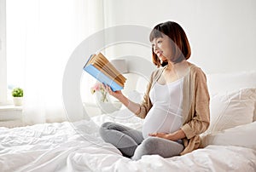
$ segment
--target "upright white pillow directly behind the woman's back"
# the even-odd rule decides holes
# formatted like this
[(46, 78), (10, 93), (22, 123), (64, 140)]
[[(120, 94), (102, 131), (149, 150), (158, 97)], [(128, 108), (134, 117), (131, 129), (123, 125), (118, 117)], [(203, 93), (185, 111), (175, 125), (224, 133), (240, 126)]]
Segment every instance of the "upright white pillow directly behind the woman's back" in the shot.
[(210, 126), (202, 135), (252, 123), (256, 89), (239, 89), (212, 95)]

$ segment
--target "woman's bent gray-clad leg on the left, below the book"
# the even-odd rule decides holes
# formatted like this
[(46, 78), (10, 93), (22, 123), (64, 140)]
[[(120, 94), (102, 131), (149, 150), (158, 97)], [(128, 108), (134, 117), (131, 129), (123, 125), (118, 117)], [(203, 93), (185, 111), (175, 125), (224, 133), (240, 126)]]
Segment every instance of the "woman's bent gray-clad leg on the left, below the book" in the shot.
[(102, 139), (116, 146), (125, 157), (131, 157), (137, 146), (143, 141), (141, 131), (118, 123), (103, 123), (100, 128)]

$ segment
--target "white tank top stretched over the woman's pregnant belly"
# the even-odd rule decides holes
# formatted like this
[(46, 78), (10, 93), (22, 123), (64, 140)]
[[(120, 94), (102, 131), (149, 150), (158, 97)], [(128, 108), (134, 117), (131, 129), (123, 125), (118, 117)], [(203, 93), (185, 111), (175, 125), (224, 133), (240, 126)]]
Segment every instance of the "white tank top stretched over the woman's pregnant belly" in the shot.
[(143, 123), (143, 137), (161, 132), (172, 133), (183, 124), (183, 77), (167, 84), (155, 83), (149, 92), (153, 104)]

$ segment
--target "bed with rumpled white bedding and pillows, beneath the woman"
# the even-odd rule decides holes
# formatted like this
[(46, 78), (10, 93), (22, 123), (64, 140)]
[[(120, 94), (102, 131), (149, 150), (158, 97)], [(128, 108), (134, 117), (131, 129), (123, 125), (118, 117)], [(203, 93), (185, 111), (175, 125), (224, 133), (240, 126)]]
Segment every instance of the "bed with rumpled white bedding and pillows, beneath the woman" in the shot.
[[(194, 152), (173, 158), (124, 158), (98, 134), (99, 126), (107, 121), (142, 128), (143, 119), (122, 107), (75, 123), (0, 128), (0, 170), (256, 171), (256, 72), (207, 75), (207, 83), (211, 125), (201, 135), (201, 148)], [(129, 94), (132, 100), (141, 100), (137, 90)]]

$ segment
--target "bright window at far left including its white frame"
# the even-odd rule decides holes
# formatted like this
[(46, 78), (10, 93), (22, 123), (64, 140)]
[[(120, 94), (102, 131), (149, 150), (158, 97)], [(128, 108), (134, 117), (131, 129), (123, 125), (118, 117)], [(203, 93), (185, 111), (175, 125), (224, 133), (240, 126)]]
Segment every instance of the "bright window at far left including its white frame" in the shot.
[(0, 105), (11, 104), (12, 89), (24, 86), (26, 32), (17, 3), (0, 0)]

